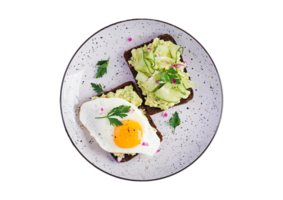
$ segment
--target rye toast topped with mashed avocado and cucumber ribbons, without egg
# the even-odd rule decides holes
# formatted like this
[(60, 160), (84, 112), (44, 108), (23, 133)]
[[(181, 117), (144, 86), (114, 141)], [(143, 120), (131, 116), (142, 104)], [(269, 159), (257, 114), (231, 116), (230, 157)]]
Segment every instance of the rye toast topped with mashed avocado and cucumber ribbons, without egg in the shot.
[[(171, 43), (170, 43), (170, 45), (172, 46), (172, 48), (169, 50), (169, 57), (167, 57), (166, 59), (168, 60), (168, 62), (170, 62), (170, 61), (174, 61), (174, 62), (171, 62), (171, 63), (174, 63), (174, 65), (175, 66), (179, 66), (179, 65), (181, 65), (182, 63), (183, 63), (183, 58), (182, 58), (182, 55), (181, 55), (181, 53), (178, 53), (178, 51), (179, 50), (182, 50), (181, 48), (179, 48), (178, 50), (176, 50), (176, 48), (177, 47), (179, 47), (179, 46), (177, 46), (177, 44), (176, 44), (176, 41), (173, 39), (173, 37), (172, 36), (170, 36), (170, 35), (168, 35), (168, 34), (164, 34), (164, 35), (159, 35), (159, 36), (157, 36), (156, 38), (158, 38), (161, 42), (167, 42), (167, 41), (170, 41), (172, 44), (174, 44), (174, 45), (171, 45)], [(167, 80), (167, 83), (165, 82), (163, 82), (163, 81), (158, 81), (158, 78), (156, 78), (157, 76), (159, 76), (160, 77), (160, 75), (157, 75), (158, 73), (158, 66), (157, 65), (155, 65), (155, 63), (157, 63), (158, 64), (158, 62), (156, 62), (158, 59), (160, 59), (160, 57), (158, 57), (158, 56), (160, 56), (159, 54), (157, 54), (158, 56), (156, 56), (156, 55), (150, 55), (152, 52), (161, 52), (162, 53), (162, 46), (164, 46), (163, 44), (164, 43), (161, 43), (162, 45), (156, 45), (155, 46), (155, 48), (147, 48), (148, 49), (148, 54), (147, 54), (147, 57), (146, 56), (144, 56), (145, 57), (145, 59), (144, 59), (144, 61), (145, 61), (145, 63), (147, 64), (147, 66), (148, 66), (148, 64), (150, 65), (150, 64), (152, 64), (153, 66), (154, 66), (154, 68), (152, 67), (152, 68), (148, 68), (148, 71), (144, 71), (143, 70), (143, 68), (141, 68), (141, 67), (139, 67), (138, 66), (138, 62), (139, 61), (137, 61), (137, 60), (135, 60), (135, 65), (136, 66), (131, 66), (131, 64), (132, 63), (134, 63), (134, 61), (133, 60), (131, 60), (131, 59), (133, 59), (134, 58), (134, 56), (133, 56), (133, 54), (132, 53), (134, 53), (134, 54), (137, 54), (138, 52), (137, 52), (137, 50), (139, 50), (139, 51), (141, 51), (141, 49), (142, 48), (146, 48), (146, 47), (150, 47), (149, 45), (150, 44), (153, 44), (154, 42), (156, 42), (155, 40), (156, 40), (156, 38), (154, 38), (154, 39), (152, 39), (151, 41), (148, 41), (148, 42), (146, 42), (146, 43), (143, 43), (143, 44), (141, 44), (141, 45), (139, 45), (139, 46), (136, 46), (136, 47), (134, 47), (134, 48), (131, 48), (131, 49), (129, 49), (129, 50), (127, 50), (125, 53), (124, 53), (124, 58), (125, 58), (125, 60), (126, 60), (126, 62), (128, 63), (128, 65), (129, 65), (129, 67), (130, 67), (130, 70), (131, 70), (131, 72), (132, 72), (132, 74), (133, 74), (133, 76), (134, 76), (134, 78), (136, 79), (136, 81), (137, 81), (137, 84), (139, 85), (139, 91), (140, 91), (140, 93), (142, 94), (142, 98), (143, 98), (143, 106), (144, 106), (144, 108), (146, 109), (146, 112), (147, 112), (147, 114), (149, 114), (149, 115), (153, 115), (153, 114), (156, 114), (156, 113), (159, 113), (159, 112), (161, 112), (161, 111), (163, 111), (163, 110), (167, 110), (168, 108), (170, 108), (170, 107), (174, 107), (174, 106), (178, 106), (178, 105), (182, 105), (182, 104), (185, 104), (185, 103), (187, 103), (188, 101), (190, 101), (192, 98), (193, 98), (193, 96), (194, 96), (194, 93), (193, 93), (193, 90), (192, 90), (192, 88), (191, 87), (189, 87), (189, 86), (187, 86), (186, 85), (186, 87), (185, 87), (185, 85), (184, 85), (184, 87), (180, 87), (180, 90), (182, 90), (181, 92), (182, 92), (182, 94), (180, 94), (180, 93), (178, 93), (178, 92), (176, 92), (175, 90), (179, 90), (179, 86), (181, 86), (182, 84), (178, 84), (178, 80), (177, 80), (177, 84), (175, 84), (176, 82), (174, 82), (174, 81), (176, 81), (175, 79), (172, 79), (173, 80), (173, 83), (172, 83), (172, 81), (171, 81), (171, 79), (169, 80), (171, 83), (169, 83), (169, 81)], [(158, 42), (158, 41), (157, 41)], [(168, 43), (167, 43), (168, 44)], [(146, 45), (146, 46), (145, 46)], [(156, 50), (157, 49), (157, 50)], [(152, 52), (151, 52), (152, 51)], [(143, 52), (145, 52), (145, 53), (142, 53), (142, 55), (145, 55), (147, 52), (146, 52), (146, 49), (144, 50), (143, 49)], [(155, 52), (155, 53), (156, 53)], [(173, 53), (172, 53), (173, 52)], [(160, 54), (161, 54), (160, 53)], [(162, 57), (161, 57), (162, 58)], [(165, 61), (163, 61), (163, 62), (167, 62), (167, 60), (165, 60)], [(178, 63), (181, 63), (181, 64), (178, 64)], [(160, 66), (159, 66), (160, 67)], [(171, 67), (170, 67), (171, 68)], [(166, 69), (167, 71), (173, 71), (173, 65), (172, 65), (172, 69)], [(141, 71), (140, 71), (141, 70)], [(143, 70), (143, 71), (142, 71)], [(165, 74), (167, 71), (166, 70), (163, 70), (163, 74)], [(186, 68), (184, 68), (183, 69), (183, 71), (181, 71), (180, 69), (177, 69), (177, 67), (175, 67), (175, 69), (174, 69), (175, 71), (173, 71), (173, 72), (176, 72), (176, 71), (179, 71), (178, 73), (179, 74), (182, 74), (182, 75), (184, 75), (186, 72), (187, 72), (187, 70), (186, 70)], [(147, 73), (148, 72), (148, 73)], [(145, 74), (145, 75), (144, 75)], [(177, 74), (177, 73), (176, 73)], [(187, 75), (187, 73), (186, 73), (186, 75)], [(188, 75), (187, 75), (188, 76)], [(180, 77), (180, 75), (176, 75), (175, 76), (175, 78), (176, 77)], [(183, 80), (183, 77), (185, 77), (185, 75), (184, 76), (182, 76), (182, 82), (184, 82), (184, 81), (187, 81), (188, 82), (188, 85), (190, 85), (190, 86), (192, 86), (192, 87), (194, 87), (195, 86), (195, 84), (193, 83), (193, 82), (191, 82), (190, 81), (190, 77), (186, 77), (186, 79), (187, 80)], [(153, 80), (152, 80), (153, 79)], [(157, 79), (157, 81), (156, 81), (156, 79)], [(177, 79), (177, 78), (176, 78)], [(150, 82), (152, 82), (152, 83), (150, 83)], [(162, 83), (161, 83), (162, 82)], [(142, 84), (141, 83), (145, 83), (144, 85), (146, 85), (146, 87), (148, 88), (148, 87), (151, 87), (151, 89), (153, 88), (153, 87), (155, 87), (152, 91), (150, 91), (149, 93), (146, 93), (145, 91), (145, 87), (143, 88), (142, 87)], [(149, 85), (149, 83), (151, 84), (151, 85)], [(161, 84), (159, 84), (159, 83), (161, 83)], [(179, 80), (179, 83), (181, 83), (181, 77), (180, 77), (180, 80)], [(173, 85), (173, 84), (175, 84), (175, 85)], [(149, 86), (148, 86), (149, 85)], [(175, 89), (170, 89), (170, 87), (172, 87), (172, 85), (174, 86), (174, 88)], [(176, 88), (177, 87), (177, 88)], [(167, 88), (167, 89), (166, 89)], [(159, 91), (158, 91), (159, 90)], [(170, 93), (168, 93), (168, 91), (170, 90)], [(171, 94), (172, 93), (172, 94)], [(165, 98), (167, 98), (167, 96), (168, 95), (171, 95), (171, 97), (170, 97), (170, 99), (162, 99), (163, 97), (162, 96), (164, 96)], [(148, 97), (148, 95), (149, 95), (149, 97)], [(178, 99), (178, 98), (176, 98), (176, 97), (178, 97), (178, 96), (180, 96), (180, 98)], [(154, 98), (154, 100), (155, 100), (155, 102), (157, 102), (158, 100), (160, 100), (160, 102), (162, 102), (164, 105), (163, 106), (160, 106), (159, 104), (153, 104), (153, 105), (150, 105), (150, 99), (152, 99), (152, 97)], [(146, 105), (146, 104), (147, 105)], [(158, 107), (159, 106), (159, 107)]]

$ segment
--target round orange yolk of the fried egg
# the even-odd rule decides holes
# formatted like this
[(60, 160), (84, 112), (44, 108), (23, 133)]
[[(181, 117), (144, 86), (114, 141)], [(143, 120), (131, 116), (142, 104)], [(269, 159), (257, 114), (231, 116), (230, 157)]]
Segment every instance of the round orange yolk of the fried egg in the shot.
[(121, 148), (132, 148), (141, 142), (141, 125), (133, 120), (121, 121), (123, 125), (116, 126), (114, 130), (114, 142)]

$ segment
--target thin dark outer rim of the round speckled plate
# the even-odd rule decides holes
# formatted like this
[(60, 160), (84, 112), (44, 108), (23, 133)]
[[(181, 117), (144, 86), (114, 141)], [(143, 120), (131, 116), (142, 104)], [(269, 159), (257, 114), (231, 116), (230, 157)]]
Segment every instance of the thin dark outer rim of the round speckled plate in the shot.
[[(181, 170), (178, 170), (177, 172), (171, 174), (171, 175), (168, 175), (168, 176), (164, 176), (164, 177), (160, 177), (160, 178), (156, 178), (156, 179), (150, 179), (150, 180), (135, 180), (135, 179), (128, 179), (128, 178), (124, 178), (124, 177), (119, 177), (119, 176), (116, 176), (116, 175), (113, 175), (111, 173), (108, 173), (108, 172), (105, 172), (103, 169), (100, 169), (99, 167), (97, 167), (96, 165), (94, 165), (93, 163), (91, 163), (84, 155), (83, 153), (80, 152), (80, 150), (76, 147), (76, 145), (74, 144), (74, 142), (72, 141), (68, 131), (67, 131), (67, 128), (66, 128), (66, 125), (65, 125), (65, 121), (64, 121), (64, 118), (63, 118), (63, 113), (62, 113), (62, 88), (63, 88), (63, 84), (64, 84), (64, 80), (65, 80), (65, 75), (66, 75), (66, 72), (70, 66), (70, 63), (72, 62), (73, 58), (75, 57), (75, 55), (77, 54), (77, 52), (80, 50), (80, 48), (90, 39), (92, 38), (94, 35), (96, 35), (97, 33), (99, 33), (100, 31), (103, 31), (104, 29), (110, 27), (110, 26), (113, 26), (113, 25), (117, 25), (117, 24), (120, 24), (120, 23), (124, 23), (124, 22), (127, 22), (127, 21), (134, 21), (134, 20), (152, 20), (152, 21), (157, 21), (157, 22), (161, 22), (161, 23), (165, 23), (167, 25), (171, 25), (183, 32), (185, 32), (186, 34), (190, 35), (196, 42), (199, 43), (199, 45), (205, 50), (205, 52), (209, 55), (209, 58), (210, 60), (212, 61), (213, 63), (213, 66), (215, 67), (216, 71), (218, 72), (217, 73), (217, 76), (220, 80), (220, 84), (222, 86), (222, 90), (221, 90), (221, 97), (222, 97), (222, 106), (221, 106), (221, 114), (220, 114), (220, 118), (219, 118), (219, 122), (218, 122), (218, 125), (217, 125), (217, 129), (212, 137), (212, 139), (210, 140), (209, 144), (207, 145), (207, 147), (203, 150), (202, 153), (200, 153), (200, 155), (188, 166), (182, 168)], [(212, 144), (214, 143), (214, 141), (216, 140), (219, 132), (220, 132), (220, 129), (221, 129), (221, 126), (223, 124), (223, 119), (224, 119), (224, 114), (225, 114), (225, 104), (226, 104), (226, 98), (225, 98), (225, 87), (224, 87), (224, 81), (223, 81), (223, 78), (222, 78), (222, 75), (221, 75), (221, 72), (220, 72), (220, 69), (219, 69), (219, 66), (216, 62), (216, 60), (213, 58), (212, 54), (210, 53), (210, 51), (207, 49), (207, 47), (196, 37), (194, 36), (192, 33), (190, 33), (189, 31), (187, 31), (185, 28), (181, 28), (180, 26), (176, 25), (176, 24), (173, 24), (173, 23), (170, 23), (168, 21), (163, 21), (163, 20), (160, 20), (160, 19), (157, 19), (157, 18), (129, 18), (129, 19), (123, 19), (123, 20), (118, 20), (118, 21), (114, 21), (112, 23), (109, 23), (97, 30), (95, 30), (94, 32), (92, 32), (90, 35), (88, 35), (77, 47), (76, 49), (73, 51), (73, 53), (71, 54), (71, 56), (69, 57), (64, 69), (63, 69), (63, 73), (61, 75), (61, 79), (60, 79), (60, 82), (59, 82), (59, 88), (58, 88), (58, 113), (59, 113), (59, 119), (60, 119), (60, 122), (61, 122), (61, 126), (62, 126), (62, 129), (64, 131), (64, 134), (68, 140), (68, 142), (71, 144), (72, 148), (75, 150), (75, 152), (88, 164), (90, 165), (92, 168), (96, 169), (97, 171), (99, 171), (100, 173), (103, 173), (109, 177), (112, 177), (112, 178), (115, 178), (115, 179), (118, 179), (118, 180), (125, 180), (125, 181), (128, 181), (128, 182), (155, 182), (155, 181), (159, 181), (159, 180), (164, 180), (164, 179), (168, 179), (168, 178), (171, 178), (171, 177), (174, 177), (176, 175), (179, 175), (180, 173), (183, 173), (185, 171), (187, 171), (188, 169), (190, 169), (193, 165), (195, 165), (199, 160), (201, 160), (204, 155), (209, 151), (209, 149), (211, 148)]]

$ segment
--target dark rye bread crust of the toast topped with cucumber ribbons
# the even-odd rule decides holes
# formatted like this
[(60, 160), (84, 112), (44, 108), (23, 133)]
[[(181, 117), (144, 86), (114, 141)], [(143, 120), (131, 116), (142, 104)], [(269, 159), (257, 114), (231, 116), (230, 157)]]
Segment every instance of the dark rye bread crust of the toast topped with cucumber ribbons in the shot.
[[(173, 38), (171, 35), (164, 34), (164, 35), (159, 35), (159, 36), (157, 36), (157, 37), (158, 37), (160, 40), (171, 41), (172, 43), (174, 43), (174, 44), (177, 45), (176, 41), (174, 40), (174, 38)], [(125, 53), (124, 53), (124, 58), (125, 58), (126, 62), (128, 63), (129, 59), (132, 57), (131, 51), (132, 51), (133, 49), (137, 49), (137, 48), (143, 47), (145, 44), (148, 45), (149, 43), (152, 43), (152, 42), (153, 42), (153, 39), (150, 40), (150, 41), (148, 41), (148, 42), (146, 42), (146, 43), (143, 43), (143, 44), (141, 44), (141, 45), (139, 45), (139, 46), (133, 47), (133, 48), (129, 49), (128, 51), (125, 51)], [(181, 60), (182, 62), (184, 62), (182, 55), (181, 55), (181, 57), (180, 57), (180, 60)], [(129, 64), (129, 63), (128, 63), (128, 66), (130, 67), (130, 64)], [(130, 67), (130, 70), (131, 70), (131, 72), (132, 72), (134, 78), (136, 78), (138, 72), (135, 70), (134, 67)], [(186, 68), (184, 68), (184, 72), (187, 72)], [(189, 79), (191, 80), (190, 77), (189, 77)], [(162, 112), (162, 111), (163, 111), (163, 110), (161, 110), (160, 108), (155, 108), (155, 107), (150, 107), (150, 106), (144, 105), (144, 102), (145, 102), (145, 98), (144, 98), (144, 97), (145, 97), (145, 96), (142, 94), (142, 90), (141, 90), (139, 87), (138, 87), (138, 89), (139, 89), (139, 91), (140, 91), (140, 94), (142, 95), (142, 98), (143, 98), (143, 106), (145, 107), (145, 110), (146, 110), (147, 114), (149, 114), (149, 115), (154, 115), (154, 114), (156, 114), (156, 113), (159, 113), (159, 112)], [(179, 105), (185, 104), (185, 103), (187, 103), (188, 101), (190, 101), (190, 100), (194, 97), (193, 89), (192, 89), (192, 88), (189, 88), (188, 91), (191, 92), (190, 95), (189, 95), (189, 97), (188, 97), (187, 99), (181, 99), (181, 100), (180, 100), (180, 103), (175, 104), (174, 106), (179, 106)], [(174, 106), (173, 106), (173, 107), (174, 107)]]

